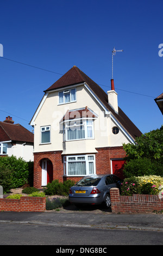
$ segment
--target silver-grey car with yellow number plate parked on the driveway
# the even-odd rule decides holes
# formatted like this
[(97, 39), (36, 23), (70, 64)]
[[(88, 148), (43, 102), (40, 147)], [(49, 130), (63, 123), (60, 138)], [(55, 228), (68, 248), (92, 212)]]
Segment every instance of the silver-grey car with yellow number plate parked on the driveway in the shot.
[(114, 174), (85, 176), (70, 188), (69, 201), (75, 205), (104, 203), (109, 208), (110, 188), (121, 188), (121, 184), (122, 180)]

